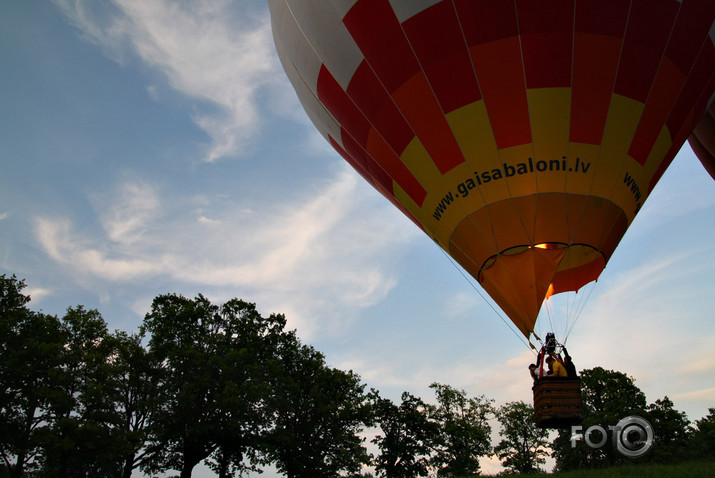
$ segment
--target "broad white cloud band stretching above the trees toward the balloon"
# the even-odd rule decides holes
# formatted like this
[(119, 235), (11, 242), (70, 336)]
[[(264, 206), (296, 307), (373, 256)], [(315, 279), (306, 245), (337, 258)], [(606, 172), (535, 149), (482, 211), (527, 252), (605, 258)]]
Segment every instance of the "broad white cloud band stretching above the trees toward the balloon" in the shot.
[(206, 196), (161, 197), (146, 181), (125, 180), (95, 201), (103, 234), (56, 217), (36, 218), (34, 231), (80, 283), (163, 277), (216, 300), (247, 294), (285, 313), (303, 336), (329, 334), (394, 287), (390, 263), (415, 233), (382, 201), (371, 207), (379, 199), (347, 166), (315, 189), (254, 210)]

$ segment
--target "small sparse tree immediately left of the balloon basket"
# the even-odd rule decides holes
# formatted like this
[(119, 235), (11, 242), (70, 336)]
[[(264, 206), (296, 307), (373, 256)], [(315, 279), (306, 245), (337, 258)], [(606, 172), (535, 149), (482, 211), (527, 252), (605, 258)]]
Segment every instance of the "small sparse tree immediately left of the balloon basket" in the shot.
[(513, 473), (536, 473), (546, 462), (548, 430), (537, 428), (534, 408), (524, 402), (509, 402), (496, 412), (502, 440), (494, 448), (502, 465)]

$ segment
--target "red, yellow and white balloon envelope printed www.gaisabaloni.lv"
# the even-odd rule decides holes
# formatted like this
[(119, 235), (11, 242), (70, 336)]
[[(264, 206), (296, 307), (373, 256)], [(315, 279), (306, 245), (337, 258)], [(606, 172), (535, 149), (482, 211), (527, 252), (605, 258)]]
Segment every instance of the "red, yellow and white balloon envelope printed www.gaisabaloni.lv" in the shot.
[(715, 90), (712, 0), (269, 0), (325, 139), (526, 338), (595, 281)]

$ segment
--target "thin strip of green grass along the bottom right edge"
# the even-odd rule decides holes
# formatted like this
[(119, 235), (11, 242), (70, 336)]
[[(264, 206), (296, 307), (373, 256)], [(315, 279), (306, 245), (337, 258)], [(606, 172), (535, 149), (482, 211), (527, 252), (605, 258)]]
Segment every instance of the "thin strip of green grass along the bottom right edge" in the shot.
[[(500, 475), (544, 476), (544, 475)], [(715, 477), (715, 461), (693, 461), (671, 465), (623, 465), (598, 470), (576, 470), (553, 473), (555, 478), (698, 478)]]

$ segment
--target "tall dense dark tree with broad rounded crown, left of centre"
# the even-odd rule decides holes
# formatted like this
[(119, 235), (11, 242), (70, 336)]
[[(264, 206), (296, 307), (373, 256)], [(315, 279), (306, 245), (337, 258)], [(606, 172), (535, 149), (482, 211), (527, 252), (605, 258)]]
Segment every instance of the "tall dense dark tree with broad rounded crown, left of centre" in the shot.
[(142, 330), (162, 367), (164, 406), (155, 414), (156, 446), (144, 469), (179, 470), (202, 460), (220, 476), (254, 457), (257, 432), (268, 426), (266, 370), (274, 360), (285, 317), (263, 318), (255, 304), (238, 299), (216, 306), (199, 295), (154, 299)]

